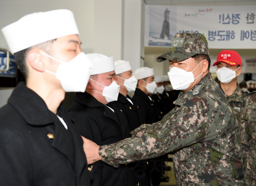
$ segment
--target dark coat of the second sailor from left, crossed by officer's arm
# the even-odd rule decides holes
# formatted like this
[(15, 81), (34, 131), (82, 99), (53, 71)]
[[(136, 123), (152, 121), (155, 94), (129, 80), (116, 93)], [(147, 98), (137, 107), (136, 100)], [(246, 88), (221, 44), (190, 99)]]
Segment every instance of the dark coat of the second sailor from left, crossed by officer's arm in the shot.
[[(98, 102), (87, 92), (76, 92), (68, 108), (80, 134), (98, 145), (112, 144), (130, 137), (127, 120), (113, 103)], [(95, 162), (90, 172), (92, 186), (135, 186), (134, 169), (121, 165), (114, 168), (102, 161)]]

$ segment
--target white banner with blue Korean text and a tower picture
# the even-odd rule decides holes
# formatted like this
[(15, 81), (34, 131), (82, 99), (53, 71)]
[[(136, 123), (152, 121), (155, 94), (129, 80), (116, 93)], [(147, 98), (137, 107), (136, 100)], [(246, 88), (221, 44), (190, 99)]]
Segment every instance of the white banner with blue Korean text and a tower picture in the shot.
[(177, 32), (202, 33), (209, 48), (256, 48), (256, 6), (146, 5), (144, 46), (171, 46)]

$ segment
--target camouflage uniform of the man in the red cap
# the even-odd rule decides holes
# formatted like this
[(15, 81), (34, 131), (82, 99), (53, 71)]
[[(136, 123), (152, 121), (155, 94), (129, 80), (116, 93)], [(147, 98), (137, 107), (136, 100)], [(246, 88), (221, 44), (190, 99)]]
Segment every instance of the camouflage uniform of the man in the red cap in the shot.
[(230, 96), (225, 94), (225, 92), (222, 90), (221, 87), (220, 87), (220, 89), (222, 90), (223, 94), (226, 96), (228, 103), (230, 104), (234, 114), (236, 115), (236, 118), (238, 119), (238, 116), (241, 112), (243, 98), (246, 94), (248, 94), (248, 92), (241, 90), (237, 83), (236, 83), (236, 85), (237, 85), (237, 87), (236, 87), (235, 92)]

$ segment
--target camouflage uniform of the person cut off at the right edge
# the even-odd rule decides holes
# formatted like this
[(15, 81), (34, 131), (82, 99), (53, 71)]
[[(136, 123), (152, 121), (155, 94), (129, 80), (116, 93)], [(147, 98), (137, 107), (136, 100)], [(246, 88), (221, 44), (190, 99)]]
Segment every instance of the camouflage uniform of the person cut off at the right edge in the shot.
[(245, 180), (250, 186), (256, 185), (256, 91), (244, 97), (244, 106), (241, 111), (241, 143), (246, 148), (247, 160), (245, 163)]

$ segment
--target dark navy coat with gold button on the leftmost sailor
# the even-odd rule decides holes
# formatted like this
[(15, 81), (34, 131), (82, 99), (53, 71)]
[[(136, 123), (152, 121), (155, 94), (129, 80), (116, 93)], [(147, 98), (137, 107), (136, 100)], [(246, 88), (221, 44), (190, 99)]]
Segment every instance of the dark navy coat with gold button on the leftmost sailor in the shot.
[(56, 114), (20, 82), (0, 108), (1, 186), (90, 186), (83, 140), (63, 104)]

